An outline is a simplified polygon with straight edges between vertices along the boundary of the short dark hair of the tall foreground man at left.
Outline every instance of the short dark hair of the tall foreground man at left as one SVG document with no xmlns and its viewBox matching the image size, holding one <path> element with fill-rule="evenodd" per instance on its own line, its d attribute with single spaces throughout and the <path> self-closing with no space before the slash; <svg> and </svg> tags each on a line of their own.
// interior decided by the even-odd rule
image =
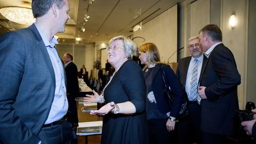
<svg viewBox="0 0 256 144">
<path fill-rule="evenodd" d="M 31 7 L 34 18 L 41 17 L 47 13 L 54 3 L 57 4 L 59 9 L 61 9 L 64 5 L 63 0 L 32 0 Z"/>
</svg>

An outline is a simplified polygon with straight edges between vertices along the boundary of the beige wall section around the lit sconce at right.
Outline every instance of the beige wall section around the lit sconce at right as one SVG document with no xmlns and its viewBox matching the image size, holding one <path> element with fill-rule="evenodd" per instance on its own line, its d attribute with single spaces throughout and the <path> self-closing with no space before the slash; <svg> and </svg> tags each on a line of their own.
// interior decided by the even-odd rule
<svg viewBox="0 0 256 144">
<path fill-rule="evenodd" d="M 222 1 L 221 13 L 221 31 L 222 42 L 233 52 L 237 69 L 241 75 L 241 84 L 238 86 L 238 100 L 239 107 L 243 108 L 245 104 L 247 83 L 247 7 L 246 1 L 241 0 L 225 0 Z M 235 13 L 237 17 L 237 26 L 235 28 L 229 27 L 230 15 Z"/>
</svg>

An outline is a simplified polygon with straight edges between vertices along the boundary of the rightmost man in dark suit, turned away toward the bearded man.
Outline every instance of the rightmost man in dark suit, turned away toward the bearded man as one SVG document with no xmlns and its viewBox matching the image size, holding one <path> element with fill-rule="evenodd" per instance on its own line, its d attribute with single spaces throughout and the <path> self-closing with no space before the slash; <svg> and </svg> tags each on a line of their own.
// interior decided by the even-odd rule
<svg viewBox="0 0 256 144">
<path fill-rule="evenodd" d="M 199 78 L 201 100 L 201 130 L 203 143 L 224 143 L 227 135 L 235 135 L 238 128 L 237 85 L 241 76 L 233 53 L 222 43 L 221 30 L 207 25 L 199 31 L 199 38 L 208 58 Z"/>
</svg>

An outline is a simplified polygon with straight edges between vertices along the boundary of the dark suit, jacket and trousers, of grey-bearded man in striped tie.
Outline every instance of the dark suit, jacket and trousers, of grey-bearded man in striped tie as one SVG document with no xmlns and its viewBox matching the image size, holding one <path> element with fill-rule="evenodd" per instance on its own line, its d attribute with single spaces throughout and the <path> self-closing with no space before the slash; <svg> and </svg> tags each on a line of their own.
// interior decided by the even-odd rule
<svg viewBox="0 0 256 144">
<path fill-rule="evenodd" d="M 180 82 L 183 86 L 183 89 L 186 90 L 186 81 L 188 67 L 191 57 L 186 57 L 179 60 L 177 67 L 176 75 L 180 79 Z M 202 68 L 206 63 L 207 58 L 203 55 Z M 202 75 L 202 69 L 201 73 Z M 191 139 L 195 139 L 197 142 L 200 141 L 201 130 L 200 130 L 200 121 L 201 121 L 201 108 L 197 104 L 197 101 L 194 103 L 189 103 L 190 114 L 188 117 L 180 119 L 179 121 L 179 141 L 180 143 L 192 143 Z M 191 124 L 192 123 L 192 124 Z M 189 130 L 188 130 L 189 129 Z M 192 137 L 194 136 L 194 138 Z M 184 139 L 184 137 L 189 137 Z"/>
</svg>

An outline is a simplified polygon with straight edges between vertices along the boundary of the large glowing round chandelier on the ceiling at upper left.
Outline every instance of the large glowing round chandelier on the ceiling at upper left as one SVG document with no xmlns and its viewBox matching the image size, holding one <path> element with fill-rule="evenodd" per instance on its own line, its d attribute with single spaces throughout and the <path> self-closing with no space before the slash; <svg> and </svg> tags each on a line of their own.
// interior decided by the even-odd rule
<svg viewBox="0 0 256 144">
<path fill-rule="evenodd" d="M 0 9 L 0 13 L 8 20 L 22 25 L 31 25 L 35 22 L 31 6 L 22 4 L 20 6 L 8 6 Z"/>
</svg>

